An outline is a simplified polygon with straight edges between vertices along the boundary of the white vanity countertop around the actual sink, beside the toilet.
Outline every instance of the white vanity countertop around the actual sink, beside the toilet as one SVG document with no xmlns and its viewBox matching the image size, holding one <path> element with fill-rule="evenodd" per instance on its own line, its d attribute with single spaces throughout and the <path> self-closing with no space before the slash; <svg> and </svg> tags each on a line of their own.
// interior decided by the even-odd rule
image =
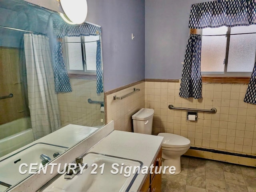
<svg viewBox="0 0 256 192">
<path fill-rule="evenodd" d="M 113 131 L 95 145 L 90 152 L 102 153 L 126 159 L 141 161 L 150 167 L 158 154 L 164 137 L 125 131 Z M 145 174 L 138 174 L 130 191 L 138 191 L 146 180 Z"/>
</svg>

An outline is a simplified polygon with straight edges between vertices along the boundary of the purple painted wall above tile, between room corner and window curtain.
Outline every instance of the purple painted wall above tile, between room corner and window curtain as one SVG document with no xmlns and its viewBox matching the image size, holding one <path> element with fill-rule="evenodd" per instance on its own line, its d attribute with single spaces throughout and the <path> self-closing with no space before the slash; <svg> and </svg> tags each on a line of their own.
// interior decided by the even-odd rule
<svg viewBox="0 0 256 192">
<path fill-rule="evenodd" d="M 191 5 L 208 1 L 145 0 L 145 78 L 181 78 Z"/>
</svg>

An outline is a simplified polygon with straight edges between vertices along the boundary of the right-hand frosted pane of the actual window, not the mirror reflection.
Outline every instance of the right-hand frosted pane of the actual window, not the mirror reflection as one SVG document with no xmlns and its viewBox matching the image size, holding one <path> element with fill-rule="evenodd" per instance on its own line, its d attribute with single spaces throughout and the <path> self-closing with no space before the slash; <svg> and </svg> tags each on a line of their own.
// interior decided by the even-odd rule
<svg viewBox="0 0 256 192">
<path fill-rule="evenodd" d="M 256 25 L 231 27 L 230 34 L 256 32 Z M 227 72 L 252 72 L 256 34 L 230 35 Z"/>
</svg>

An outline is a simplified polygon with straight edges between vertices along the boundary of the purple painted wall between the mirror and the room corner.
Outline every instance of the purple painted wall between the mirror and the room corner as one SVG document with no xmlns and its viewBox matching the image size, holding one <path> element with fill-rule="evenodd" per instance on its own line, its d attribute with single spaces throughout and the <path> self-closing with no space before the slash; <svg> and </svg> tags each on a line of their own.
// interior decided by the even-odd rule
<svg viewBox="0 0 256 192">
<path fill-rule="evenodd" d="M 143 80 L 144 0 L 87 0 L 87 3 L 86 21 L 102 26 L 104 91 Z"/>
</svg>

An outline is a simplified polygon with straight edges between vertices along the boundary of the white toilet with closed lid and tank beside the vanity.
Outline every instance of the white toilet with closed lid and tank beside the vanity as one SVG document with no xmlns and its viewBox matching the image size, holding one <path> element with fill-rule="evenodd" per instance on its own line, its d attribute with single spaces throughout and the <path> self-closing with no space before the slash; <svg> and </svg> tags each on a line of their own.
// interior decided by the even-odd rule
<svg viewBox="0 0 256 192">
<path fill-rule="evenodd" d="M 142 108 L 132 116 L 134 133 L 152 133 L 154 110 Z M 186 137 L 172 133 L 159 133 L 158 136 L 164 137 L 162 143 L 162 170 L 164 166 L 174 166 L 174 174 L 181 172 L 180 156 L 190 148 L 190 140 Z M 168 171 L 165 174 L 170 174 Z"/>
</svg>

